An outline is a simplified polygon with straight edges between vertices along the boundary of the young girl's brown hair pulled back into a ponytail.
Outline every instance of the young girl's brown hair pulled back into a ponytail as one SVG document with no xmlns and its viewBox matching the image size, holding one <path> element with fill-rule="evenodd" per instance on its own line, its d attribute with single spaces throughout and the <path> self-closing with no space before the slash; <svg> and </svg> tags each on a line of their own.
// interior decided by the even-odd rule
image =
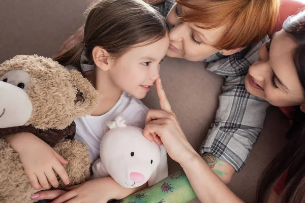
<svg viewBox="0 0 305 203">
<path fill-rule="evenodd" d="M 85 55 L 93 60 L 92 51 L 103 47 L 110 57 L 117 59 L 139 43 L 157 42 L 168 33 L 164 17 L 141 0 L 101 0 L 88 9 L 83 43 L 55 56 L 62 65 L 80 69 L 80 59 Z"/>
</svg>

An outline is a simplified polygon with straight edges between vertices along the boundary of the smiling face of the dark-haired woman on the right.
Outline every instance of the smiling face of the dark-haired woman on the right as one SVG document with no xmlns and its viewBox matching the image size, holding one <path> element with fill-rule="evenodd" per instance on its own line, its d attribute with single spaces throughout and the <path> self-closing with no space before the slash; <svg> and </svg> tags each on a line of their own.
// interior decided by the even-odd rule
<svg viewBox="0 0 305 203">
<path fill-rule="evenodd" d="M 293 61 L 297 44 L 283 29 L 260 47 L 258 61 L 245 79 L 247 90 L 273 106 L 305 103 L 304 93 Z"/>
</svg>

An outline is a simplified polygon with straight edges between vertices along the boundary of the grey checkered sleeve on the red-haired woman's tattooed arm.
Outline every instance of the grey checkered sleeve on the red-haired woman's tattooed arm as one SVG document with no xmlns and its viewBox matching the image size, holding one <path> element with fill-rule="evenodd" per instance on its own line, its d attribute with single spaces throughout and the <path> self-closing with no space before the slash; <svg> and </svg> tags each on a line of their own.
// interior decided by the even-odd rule
<svg viewBox="0 0 305 203">
<path fill-rule="evenodd" d="M 237 172 L 245 165 L 263 128 L 269 104 L 243 85 L 245 77 L 228 77 L 219 96 L 219 109 L 201 155 L 208 152 L 230 163 Z"/>
</svg>

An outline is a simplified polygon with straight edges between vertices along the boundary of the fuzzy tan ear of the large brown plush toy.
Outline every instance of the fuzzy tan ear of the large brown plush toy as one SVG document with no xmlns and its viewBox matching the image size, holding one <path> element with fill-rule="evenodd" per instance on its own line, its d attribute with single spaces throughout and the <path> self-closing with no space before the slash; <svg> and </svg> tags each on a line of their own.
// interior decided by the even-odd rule
<svg viewBox="0 0 305 203">
<path fill-rule="evenodd" d="M 92 84 L 76 70 L 70 71 L 71 83 L 76 89 L 74 117 L 82 117 L 92 114 L 99 101 L 99 92 Z"/>
</svg>

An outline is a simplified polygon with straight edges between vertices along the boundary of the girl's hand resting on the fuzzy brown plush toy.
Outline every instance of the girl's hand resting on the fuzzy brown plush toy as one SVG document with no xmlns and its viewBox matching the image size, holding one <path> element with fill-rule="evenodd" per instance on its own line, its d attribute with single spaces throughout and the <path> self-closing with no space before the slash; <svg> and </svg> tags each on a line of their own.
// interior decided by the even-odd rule
<svg viewBox="0 0 305 203">
<path fill-rule="evenodd" d="M 69 184 L 68 174 L 63 167 L 68 161 L 34 134 L 28 132 L 14 134 L 9 136 L 7 141 L 19 154 L 25 174 L 35 189 L 40 190 L 41 187 L 50 189 L 50 184 L 58 187 L 59 183 L 54 171 L 65 184 Z"/>
</svg>

